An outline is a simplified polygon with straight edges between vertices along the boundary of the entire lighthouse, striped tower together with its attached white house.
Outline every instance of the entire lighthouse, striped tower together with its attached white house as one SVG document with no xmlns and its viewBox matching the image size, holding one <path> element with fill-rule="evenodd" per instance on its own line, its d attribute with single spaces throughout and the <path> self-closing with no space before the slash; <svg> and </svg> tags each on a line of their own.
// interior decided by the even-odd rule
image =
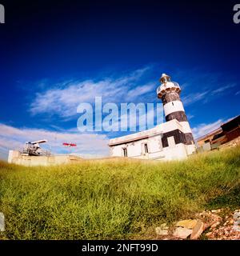
<svg viewBox="0 0 240 256">
<path fill-rule="evenodd" d="M 179 94 L 180 86 L 162 74 L 157 89 L 162 99 L 166 122 L 152 129 L 110 139 L 110 155 L 141 159 L 171 160 L 186 158 L 195 151 L 194 138 Z"/>
</svg>

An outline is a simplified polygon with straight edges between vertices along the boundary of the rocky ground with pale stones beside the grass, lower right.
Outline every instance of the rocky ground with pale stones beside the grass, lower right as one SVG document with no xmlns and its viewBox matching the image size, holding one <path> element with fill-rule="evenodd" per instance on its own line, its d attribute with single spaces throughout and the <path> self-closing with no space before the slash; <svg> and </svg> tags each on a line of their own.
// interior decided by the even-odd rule
<svg viewBox="0 0 240 256">
<path fill-rule="evenodd" d="M 206 210 L 169 226 L 163 223 L 155 231 L 163 240 L 240 240 L 240 210 Z"/>
</svg>

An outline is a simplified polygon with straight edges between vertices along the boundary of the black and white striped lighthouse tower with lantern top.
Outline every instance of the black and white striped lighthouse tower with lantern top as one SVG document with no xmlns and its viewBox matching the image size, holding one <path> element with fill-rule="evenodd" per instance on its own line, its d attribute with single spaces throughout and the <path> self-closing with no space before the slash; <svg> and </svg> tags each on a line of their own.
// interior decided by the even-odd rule
<svg viewBox="0 0 240 256">
<path fill-rule="evenodd" d="M 160 82 L 161 86 L 158 87 L 157 93 L 158 98 L 162 99 L 166 122 L 177 119 L 185 135 L 184 144 L 193 145 L 194 137 L 179 96 L 181 88 L 178 82 L 171 82 L 170 76 L 167 74 L 162 74 Z"/>
</svg>

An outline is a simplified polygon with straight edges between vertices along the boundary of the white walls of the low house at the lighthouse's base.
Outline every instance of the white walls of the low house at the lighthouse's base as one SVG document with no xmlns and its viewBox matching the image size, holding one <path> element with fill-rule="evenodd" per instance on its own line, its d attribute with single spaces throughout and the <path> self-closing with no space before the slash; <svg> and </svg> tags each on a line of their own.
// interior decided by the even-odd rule
<svg viewBox="0 0 240 256">
<path fill-rule="evenodd" d="M 182 131 L 181 122 L 174 119 L 150 130 L 111 139 L 110 155 L 124 157 L 123 148 L 126 148 L 128 158 L 173 160 L 184 159 L 187 155 L 193 154 L 196 150 L 195 145 L 185 145 L 178 142 L 176 144 L 173 136 L 167 138 L 169 146 L 162 146 L 162 134 L 172 130 Z M 145 152 L 144 144 L 147 144 L 148 153 Z"/>
</svg>

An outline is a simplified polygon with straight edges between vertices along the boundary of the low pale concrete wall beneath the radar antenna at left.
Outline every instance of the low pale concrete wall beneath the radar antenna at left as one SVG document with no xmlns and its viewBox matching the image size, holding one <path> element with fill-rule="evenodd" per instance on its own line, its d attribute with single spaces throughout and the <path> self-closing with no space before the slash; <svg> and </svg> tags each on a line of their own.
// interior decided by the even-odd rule
<svg viewBox="0 0 240 256">
<path fill-rule="evenodd" d="M 82 158 L 68 154 L 53 156 L 28 156 L 20 154 L 19 151 L 10 150 L 8 155 L 8 162 L 22 166 L 50 166 L 78 161 L 82 161 Z"/>
</svg>

